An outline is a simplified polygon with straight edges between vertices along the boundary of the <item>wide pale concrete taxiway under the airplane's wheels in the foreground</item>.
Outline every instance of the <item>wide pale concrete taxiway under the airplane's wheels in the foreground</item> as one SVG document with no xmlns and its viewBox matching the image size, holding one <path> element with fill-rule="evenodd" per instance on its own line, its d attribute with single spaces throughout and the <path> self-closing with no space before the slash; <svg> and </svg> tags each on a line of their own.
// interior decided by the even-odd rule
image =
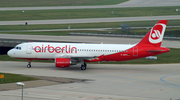
<svg viewBox="0 0 180 100">
<path fill-rule="evenodd" d="M 173 100 L 180 99 L 180 64 L 88 64 L 55 68 L 53 63 L 0 62 L 0 72 L 90 79 L 92 81 L 24 89 L 24 100 Z M 26 85 L 25 85 L 26 86 Z M 21 99 L 21 89 L 0 91 L 3 100 Z"/>
</svg>

